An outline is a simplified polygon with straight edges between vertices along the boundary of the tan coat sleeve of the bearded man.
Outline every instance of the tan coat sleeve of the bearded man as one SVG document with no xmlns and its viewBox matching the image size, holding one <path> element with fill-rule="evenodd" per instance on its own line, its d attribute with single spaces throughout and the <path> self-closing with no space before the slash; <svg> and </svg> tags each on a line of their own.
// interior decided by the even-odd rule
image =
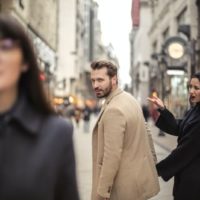
<svg viewBox="0 0 200 200">
<path fill-rule="evenodd" d="M 104 157 L 97 193 L 110 198 L 113 181 L 118 172 L 123 150 L 126 120 L 118 109 L 109 109 L 104 114 Z"/>
</svg>

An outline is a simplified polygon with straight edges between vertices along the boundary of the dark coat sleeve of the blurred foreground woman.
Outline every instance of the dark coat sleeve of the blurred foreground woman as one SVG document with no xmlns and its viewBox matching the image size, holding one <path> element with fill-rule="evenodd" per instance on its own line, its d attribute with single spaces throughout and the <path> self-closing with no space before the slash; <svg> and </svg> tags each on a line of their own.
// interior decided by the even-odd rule
<svg viewBox="0 0 200 200">
<path fill-rule="evenodd" d="M 65 147 L 62 156 L 62 166 L 58 183 L 56 186 L 56 198 L 55 200 L 73 199 L 79 200 L 77 181 L 76 181 L 76 167 L 75 156 L 73 147 L 73 127 L 68 124 L 63 129 L 65 133 Z"/>
</svg>

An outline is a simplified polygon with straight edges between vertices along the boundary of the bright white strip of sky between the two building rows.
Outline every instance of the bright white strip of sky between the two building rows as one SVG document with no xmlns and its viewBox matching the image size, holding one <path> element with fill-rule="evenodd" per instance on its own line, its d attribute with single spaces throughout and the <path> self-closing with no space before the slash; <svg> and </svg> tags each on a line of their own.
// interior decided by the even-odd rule
<svg viewBox="0 0 200 200">
<path fill-rule="evenodd" d="M 99 4 L 102 41 L 111 43 L 119 60 L 121 84 L 130 84 L 131 0 L 96 0 Z"/>
</svg>

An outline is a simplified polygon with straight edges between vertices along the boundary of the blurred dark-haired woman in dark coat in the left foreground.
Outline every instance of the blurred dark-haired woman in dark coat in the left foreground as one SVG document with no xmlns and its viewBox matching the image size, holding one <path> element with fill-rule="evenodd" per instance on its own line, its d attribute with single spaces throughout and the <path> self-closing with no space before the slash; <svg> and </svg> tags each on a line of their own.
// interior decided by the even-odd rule
<svg viewBox="0 0 200 200">
<path fill-rule="evenodd" d="M 0 199 L 78 200 L 72 126 L 57 117 L 24 28 L 0 16 Z"/>
</svg>

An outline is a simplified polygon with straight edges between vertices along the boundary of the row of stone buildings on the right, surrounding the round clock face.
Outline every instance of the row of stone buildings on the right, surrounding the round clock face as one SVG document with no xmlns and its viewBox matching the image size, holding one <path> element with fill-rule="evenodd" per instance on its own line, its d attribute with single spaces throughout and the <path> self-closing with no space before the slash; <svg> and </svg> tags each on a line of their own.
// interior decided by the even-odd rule
<svg viewBox="0 0 200 200">
<path fill-rule="evenodd" d="M 135 2 L 140 3 L 139 12 L 135 11 L 140 13 L 136 18 L 140 19 L 140 24 L 133 27 L 130 34 L 133 94 L 139 100 L 146 99 L 147 95 L 158 95 L 177 117 L 181 117 L 188 106 L 188 80 L 198 70 L 197 1 Z M 173 37 L 186 43 L 186 62 L 182 68 L 169 69 L 166 61 L 164 47 Z M 141 104 L 144 103 L 142 100 Z"/>
</svg>

